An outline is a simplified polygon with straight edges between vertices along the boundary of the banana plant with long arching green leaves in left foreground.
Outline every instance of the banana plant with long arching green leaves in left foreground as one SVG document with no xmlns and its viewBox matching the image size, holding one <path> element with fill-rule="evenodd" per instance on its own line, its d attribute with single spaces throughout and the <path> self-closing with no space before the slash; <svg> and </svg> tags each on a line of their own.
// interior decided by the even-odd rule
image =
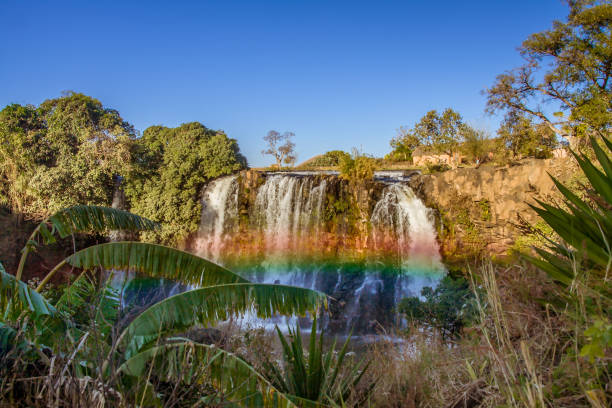
<svg viewBox="0 0 612 408">
<path fill-rule="evenodd" d="M 157 227 L 156 223 L 125 211 L 90 206 L 71 207 L 43 221 L 26 243 L 16 276 L 0 270 L 3 312 L 0 337 L 7 339 L 3 342 L 14 337 L 10 329 L 11 324 L 19 321 L 18 317 L 31 316 L 40 323 L 37 333 L 41 332 L 41 327 L 47 329 L 47 335 L 40 336 L 45 345 L 54 338 L 56 341 L 58 338 L 71 340 L 73 350 L 69 361 L 73 362 L 76 375 L 96 375 L 102 380 L 118 381 L 122 387 L 135 384 L 129 394 L 141 395 L 147 404 L 157 405 L 159 394 L 154 392 L 148 380 L 140 381 L 138 377 L 145 370 L 151 373 L 150 370 L 155 369 L 156 376 L 175 381 L 202 381 L 205 376 L 225 398 L 257 400 L 257 405 L 261 406 L 294 406 L 270 381 L 237 356 L 175 336 L 195 325 L 211 326 L 245 312 L 254 312 L 262 318 L 276 314 L 316 313 L 321 305 L 327 306 L 323 293 L 293 286 L 252 283 L 196 255 L 142 242 L 112 242 L 80 250 L 52 268 L 36 290 L 20 280 L 28 254 L 40 244 L 54 242 L 57 236 Z M 83 272 L 52 305 L 39 292 L 59 270 L 68 266 Z M 90 280 L 90 271 L 96 269 L 135 272 L 196 288 L 151 305 L 113 337 L 108 334 L 111 328 L 116 328 L 117 314 L 113 313 L 112 306 L 116 296 L 109 280 L 101 289 Z M 91 324 L 76 325 L 74 310 L 91 300 L 92 295 L 97 295 L 97 301 Z M 117 309 L 115 304 L 114 310 Z M 91 347 L 87 347 L 94 337 L 103 355 L 95 361 L 90 358 Z M 190 366 L 207 369 L 196 370 L 199 374 L 187 376 L 187 379 L 184 373 L 177 375 L 181 370 L 189 371 Z"/>
</svg>

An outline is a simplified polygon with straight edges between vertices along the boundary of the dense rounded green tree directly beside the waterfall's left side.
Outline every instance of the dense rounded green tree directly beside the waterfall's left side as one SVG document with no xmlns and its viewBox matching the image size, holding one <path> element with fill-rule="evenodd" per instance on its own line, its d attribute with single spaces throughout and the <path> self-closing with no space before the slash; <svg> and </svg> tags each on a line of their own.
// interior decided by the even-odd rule
<svg viewBox="0 0 612 408">
<path fill-rule="evenodd" d="M 133 155 L 134 171 L 125 180 L 131 210 L 163 223 L 142 238 L 171 245 L 197 231 L 205 183 L 247 165 L 236 140 L 198 122 L 147 128 Z"/>
</svg>

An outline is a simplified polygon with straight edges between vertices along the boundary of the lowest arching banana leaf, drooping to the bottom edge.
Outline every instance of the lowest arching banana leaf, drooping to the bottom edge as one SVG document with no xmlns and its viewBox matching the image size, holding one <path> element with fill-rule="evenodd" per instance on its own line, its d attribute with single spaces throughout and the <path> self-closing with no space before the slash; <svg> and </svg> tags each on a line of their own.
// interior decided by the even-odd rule
<svg viewBox="0 0 612 408">
<path fill-rule="evenodd" d="M 142 377 L 151 364 L 163 381 L 187 384 L 207 381 L 229 401 L 240 401 L 242 406 L 296 406 L 244 360 L 215 346 L 192 342 L 163 344 L 131 357 L 118 372 Z"/>
</svg>

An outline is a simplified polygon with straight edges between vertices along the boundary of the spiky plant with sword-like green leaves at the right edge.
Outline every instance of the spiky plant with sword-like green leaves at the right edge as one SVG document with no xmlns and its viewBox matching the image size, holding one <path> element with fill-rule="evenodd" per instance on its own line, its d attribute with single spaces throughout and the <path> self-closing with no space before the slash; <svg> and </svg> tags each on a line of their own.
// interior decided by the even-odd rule
<svg viewBox="0 0 612 408">
<path fill-rule="evenodd" d="M 612 378 L 612 142 L 604 147 L 591 138 L 599 165 L 585 154 L 572 152 L 588 180 L 579 197 L 557 179 L 562 205 L 538 201 L 532 206 L 559 240 L 548 238 L 548 248 L 527 256 L 562 288 L 558 303 L 575 326 L 575 350 L 593 363 L 580 387 L 592 406 L 607 406 L 606 384 Z"/>
</svg>

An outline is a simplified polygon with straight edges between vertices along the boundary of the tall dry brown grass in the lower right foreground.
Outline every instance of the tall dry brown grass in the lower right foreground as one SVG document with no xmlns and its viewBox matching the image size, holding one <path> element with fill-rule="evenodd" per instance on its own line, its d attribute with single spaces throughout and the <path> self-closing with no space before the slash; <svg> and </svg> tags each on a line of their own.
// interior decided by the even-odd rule
<svg viewBox="0 0 612 408">
<path fill-rule="evenodd" d="M 461 339 L 440 344 L 419 333 L 371 347 L 372 406 L 609 406 L 610 391 L 589 385 L 601 372 L 578 356 L 577 327 L 553 306 L 554 284 L 522 264 L 488 263 L 472 277 L 484 294 L 480 323 Z"/>
</svg>

